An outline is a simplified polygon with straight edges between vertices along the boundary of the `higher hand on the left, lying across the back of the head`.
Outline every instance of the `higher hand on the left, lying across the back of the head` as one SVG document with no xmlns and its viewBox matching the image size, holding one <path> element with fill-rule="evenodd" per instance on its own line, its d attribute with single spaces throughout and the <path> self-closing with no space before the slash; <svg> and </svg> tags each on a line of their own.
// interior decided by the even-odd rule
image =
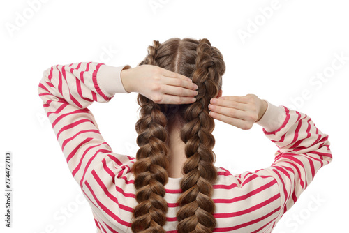
<svg viewBox="0 0 349 233">
<path fill-rule="evenodd" d="M 198 86 L 179 73 L 159 66 L 142 65 L 121 71 L 128 92 L 137 92 L 159 104 L 186 104 L 196 101 Z"/>
</svg>

